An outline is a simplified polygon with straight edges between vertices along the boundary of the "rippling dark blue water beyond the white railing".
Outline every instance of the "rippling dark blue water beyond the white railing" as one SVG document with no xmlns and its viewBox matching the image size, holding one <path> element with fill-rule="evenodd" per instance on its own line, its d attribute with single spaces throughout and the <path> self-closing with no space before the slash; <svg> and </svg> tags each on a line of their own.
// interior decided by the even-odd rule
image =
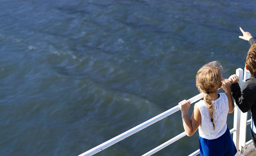
<svg viewBox="0 0 256 156">
<path fill-rule="evenodd" d="M 78 155 L 198 94 L 205 63 L 235 74 L 255 5 L 0 1 L 0 155 Z M 183 130 L 177 112 L 96 155 L 142 155 Z M 198 148 L 196 132 L 155 155 Z"/>
</svg>

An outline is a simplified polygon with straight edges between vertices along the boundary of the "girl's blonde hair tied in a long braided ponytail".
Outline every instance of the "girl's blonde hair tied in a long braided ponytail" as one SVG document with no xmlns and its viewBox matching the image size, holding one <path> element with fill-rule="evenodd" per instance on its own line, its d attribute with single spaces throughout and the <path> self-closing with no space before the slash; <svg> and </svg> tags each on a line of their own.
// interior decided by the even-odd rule
<svg viewBox="0 0 256 156">
<path fill-rule="evenodd" d="M 204 102 L 208 106 L 213 124 L 213 131 L 215 131 L 215 124 L 213 121 L 212 97 L 209 93 L 215 92 L 222 84 L 221 71 L 223 70 L 220 62 L 213 61 L 202 66 L 196 73 L 196 87 L 200 92 L 204 92 Z"/>
</svg>

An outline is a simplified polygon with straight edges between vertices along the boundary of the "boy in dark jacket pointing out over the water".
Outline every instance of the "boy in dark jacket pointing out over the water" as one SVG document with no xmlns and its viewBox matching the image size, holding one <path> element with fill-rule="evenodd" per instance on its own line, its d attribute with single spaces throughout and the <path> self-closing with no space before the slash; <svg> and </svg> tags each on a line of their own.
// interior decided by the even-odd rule
<svg viewBox="0 0 256 156">
<path fill-rule="evenodd" d="M 236 101 L 236 105 L 242 112 L 248 112 L 251 110 L 252 113 L 252 124 L 251 124 L 251 137 L 253 144 L 256 148 L 256 38 L 252 37 L 249 32 L 244 32 L 240 27 L 243 36 L 239 36 L 246 41 L 249 41 L 250 47 L 247 52 L 247 56 L 244 59 L 245 68 L 250 71 L 253 77 L 247 79 L 244 82 L 242 89 L 238 85 L 238 77 L 236 74 L 231 75 L 228 80 L 231 82 L 232 96 Z"/>
</svg>

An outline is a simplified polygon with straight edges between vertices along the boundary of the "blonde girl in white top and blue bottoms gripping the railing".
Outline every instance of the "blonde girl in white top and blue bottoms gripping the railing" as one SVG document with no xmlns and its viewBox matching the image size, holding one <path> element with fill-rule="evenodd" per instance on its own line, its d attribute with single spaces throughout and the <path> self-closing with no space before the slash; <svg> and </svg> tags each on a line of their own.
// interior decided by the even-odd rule
<svg viewBox="0 0 256 156">
<path fill-rule="evenodd" d="M 179 103 L 187 136 L 192 136 L 199 127 L 201 156 L 234 156 L 237 152 L 226 123 L 228 113 L 234 110 L 234 102 L 230 82 L 222 80 L 221 69 L 220 63 L 213 61 L 198 70 L 196 87 L 204 93 L 204 100 L 194 105 L 191 120 L 188 115 L 190 101 Z M 225 93 L 217 93 L 220 87 Z"/>
</svg>

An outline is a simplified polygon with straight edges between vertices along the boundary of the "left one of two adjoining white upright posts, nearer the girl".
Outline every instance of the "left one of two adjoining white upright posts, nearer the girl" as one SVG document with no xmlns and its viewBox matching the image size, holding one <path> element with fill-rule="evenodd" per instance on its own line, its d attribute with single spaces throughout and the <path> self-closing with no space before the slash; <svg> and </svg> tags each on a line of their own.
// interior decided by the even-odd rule
<svg viewBox="0 0 256 156">
<path fill-rule="evenodd" d="M 241 68 L 236 69 L 236 75 L 239 78 L 239 84 L 243 83 L 243 74 L 244 71 Z M 236 145 L 237 151 L 239 151 L 239 134 L 240 134 L 240 117 L 241 117 L 241 111 L 238 108 L 238 106 L 235 103 L 235 108 L 234 108 L 234 129 L 236 131 L 233 133 L 233 141 Z M 236 156 L 238 156 L 238 152 L 236 153 Z"/>
</svg>

